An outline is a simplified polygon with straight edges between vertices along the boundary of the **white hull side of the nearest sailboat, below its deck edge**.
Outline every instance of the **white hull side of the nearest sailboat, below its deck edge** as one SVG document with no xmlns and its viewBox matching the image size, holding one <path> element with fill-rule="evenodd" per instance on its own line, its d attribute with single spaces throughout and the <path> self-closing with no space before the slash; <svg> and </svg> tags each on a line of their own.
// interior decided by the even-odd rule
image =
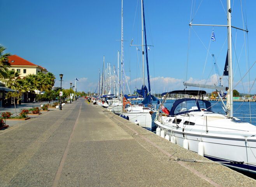
<svg viewBox="0 0 256 187">
<path fill-rule="evenodd" d="M 188 149 L 198 153 L 198 144 L 203 142 L 204 156 L 225 166 L 256 173 L 256 140 L 240 136 L 218 136 L 218 134 L 198 133 L 182 128 L 168 127 L 159 121 L 156 125 L 164 129 L 166 134 L 175 137 L 175 143 L 183 147 L 184 139 L 188 140 Z M 168 130 L 167 130 L 168 129 Z M 238 154 L 239 153 L 239 154 Z M 247 164 L 246 164 L 247 163 Z"/>
</svg>

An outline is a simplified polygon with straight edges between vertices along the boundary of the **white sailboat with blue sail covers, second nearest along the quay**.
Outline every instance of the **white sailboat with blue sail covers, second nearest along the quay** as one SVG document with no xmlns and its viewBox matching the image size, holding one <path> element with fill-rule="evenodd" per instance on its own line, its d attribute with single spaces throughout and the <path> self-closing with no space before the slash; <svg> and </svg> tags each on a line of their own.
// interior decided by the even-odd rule
<svg viewBox="0 0 256 187">
<path fill-rule="evenodd" d="M 156 125 L 154 124 L 154 118 L 156 117 L 156 109 L 152 107 L 152 101 L 156 101 L 158 104 L 160 101 L 151 95 L 151 87 L 149 80 L 149 65 L 148 65 L 148 57 L 147 57 L 147 39 L 146 39 L 146 24 L 145 24 L 145 15 L 144 15 L 144 3 L 141 0 L 142 7 L 142 70 L 143 70 L 143 85 L 141 89 L 137 89 L 137 93 L 139 96 L 143 97 L 144 100 L 139 105 L 131 105 L 128 99 L 131 97 L 124 95 L 123 98 L 123 111 L 120 115 L 121 117 L 139 125 L 148 130 L 155 129 Z M 147 89 L 145 84 L 145 73 L 144 73 L 144 36 L 145 36 L 145 50 L 146 50 L 146 61 L 147 61 L 147 81 L 148 87 Z M 132 43 L 131 43 L 132 45 Z M 130 106 L 126 107 L 126 104 L 130 104 Z"/>
</svg>

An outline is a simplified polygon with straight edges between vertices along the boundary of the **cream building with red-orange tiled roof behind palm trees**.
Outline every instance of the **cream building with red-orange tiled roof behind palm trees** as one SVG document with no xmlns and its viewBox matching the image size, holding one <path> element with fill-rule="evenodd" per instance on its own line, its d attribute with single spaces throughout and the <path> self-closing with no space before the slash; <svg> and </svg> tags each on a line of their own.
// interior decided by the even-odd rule
<svg viewBox="0 0 256 187">
<path fill-rule="evenodd" d="M 42 72 L 46 74 L 48 71 L 40 65 L 36 65 L 24 58 L 19 57 L 18 55 L 11 55 L 8 57 L 11 67 L 9 69 L 15 70 L 20 73 L 19 77 L 23 79 L 26 75 L 37 74 Z"/>
</svg>

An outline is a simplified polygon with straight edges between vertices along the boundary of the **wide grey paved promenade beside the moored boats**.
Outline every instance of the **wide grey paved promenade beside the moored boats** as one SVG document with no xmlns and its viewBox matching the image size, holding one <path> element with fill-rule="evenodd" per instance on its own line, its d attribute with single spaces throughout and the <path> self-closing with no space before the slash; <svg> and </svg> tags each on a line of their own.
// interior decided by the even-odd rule
<svg viewBox="0 0 256 187">
<path fill-rule="evenodd" d="M 0 130 L 0 157 L 0 186 L 256 186 L 83 99 Z"/>
</svg>

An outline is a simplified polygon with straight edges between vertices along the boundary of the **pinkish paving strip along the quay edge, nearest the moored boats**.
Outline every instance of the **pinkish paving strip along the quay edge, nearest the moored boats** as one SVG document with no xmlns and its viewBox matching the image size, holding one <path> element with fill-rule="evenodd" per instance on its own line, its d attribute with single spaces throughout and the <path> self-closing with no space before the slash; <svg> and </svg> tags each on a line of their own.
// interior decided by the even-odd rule
<svg viewBox="0 0 256 187">
<path fill-rule="evenodd" d="M 116 120 L 118 120 L 119 122 L 121 122 L 119 119 L 116 118 Z M 128 123 L 126 123 L 128 124 Z M 150 141 L 149 139 L 147 139 L 146 137 L 142 136 L 142 134 L 139 134 L 136 130 L 132 129 L 131 127 L 129 127 L 128 125 L 125 125 L 128 129 L 132 130 L 135 134 L 138 134 L 140 137 L 142 137 L 142 139 L 144 139 L 146 142 L 148 142 L 149 144 L 153 145 L 155 148 L 159 149 L 162 153 L 164 153 L 165 155 L 169 156 L 170 158 L 172 157 L 172 154 L 168 153 L 167 151 L 161 149 L 158 145 L 156 145 L 154 142 Z M 216 186 L 216 187 L 221 187 L 221 185 L 217 184 L 216 182 L 212 181 L 210 178 L 206 177 L 205 175 L 203 175 L 202 173 L 198 172 L 197 170 L 195 170 L 194 168 L 191 168 L 189 165 L 187 165 L 186 163 L 182 162 L 182 161 L 177 161 L 177 163 L 179 163 L 181 166 L 183 166 L 184 168 L 190 170 L 192 173 L 194 173 L 195 175 L 197 175 L 198 177 L 206 180 L 207 182 L 209 182 L 210 184 Z"/>
</svg>

